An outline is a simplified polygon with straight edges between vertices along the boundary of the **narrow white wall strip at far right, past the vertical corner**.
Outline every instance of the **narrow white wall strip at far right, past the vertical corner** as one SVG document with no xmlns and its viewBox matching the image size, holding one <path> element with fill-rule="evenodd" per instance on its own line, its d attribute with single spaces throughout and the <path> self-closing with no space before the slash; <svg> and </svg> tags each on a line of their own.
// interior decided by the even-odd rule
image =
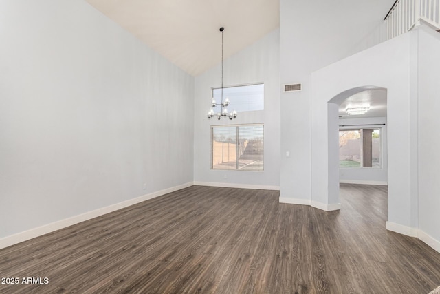
<svg viewBox="0 0 440 294">
<path fill-rule="evenodd" d="M 422 27 L 418 55 L 419 229 L 431 237 L 425 241 L 440 252 L 439 52 L 440 34 Z"/>
</svg>

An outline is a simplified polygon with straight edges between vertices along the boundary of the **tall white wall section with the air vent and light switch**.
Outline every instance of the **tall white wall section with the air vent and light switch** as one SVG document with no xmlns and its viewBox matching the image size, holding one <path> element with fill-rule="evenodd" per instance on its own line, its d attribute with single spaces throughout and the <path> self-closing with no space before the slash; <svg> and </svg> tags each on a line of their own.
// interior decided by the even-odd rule
<svg viewBox="0 0 440 294">
<path fill-rule="evenodd" d="M 380 43 L 393 2 L 280 1 L 281 85 L 303 83 L 281 93 L 281 201 L 311 200 L 311 72 Z"/>
</svg>

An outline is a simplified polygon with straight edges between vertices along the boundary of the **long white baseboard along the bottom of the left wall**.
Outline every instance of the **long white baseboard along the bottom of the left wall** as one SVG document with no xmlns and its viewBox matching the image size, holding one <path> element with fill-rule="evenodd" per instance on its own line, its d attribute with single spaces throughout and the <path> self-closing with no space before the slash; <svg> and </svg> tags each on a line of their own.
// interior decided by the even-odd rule
<svg viewBox="0 0 440 294">
<path fill-rule="evenodd" d="M 113 211 L 117 211 L 118 209 L 122 209 L 124 207 L 129 207 L 133 204 L 137 204 L 146 200 L 150 200 L 156 198 L 158 196 L 165 195 L 167 193 L 171 193 L 180 189 L 184 189 L 186 187 L 190 187 L 193 185 L 193 182 L 187 182 L 186 184 L 171 187 L 168 189 L 164 189 L 161 191 L 156 191 L 153 193 L 146 194 L 144 196 L 140 196 L 137 198 L 133 198 L 130 200 L 126 200 L 123 202 L 119 202 L 116 204 L 109 205 L 108 207 L 102 207 L 100 209 L 96 209 L 94 211 L 88 211 L 86 213 L 82 213 L 78 216 L 72 216 L 71 218 L 65 218 L 64 220 L 58 220 L 57 222 L 52 222 L 51 224 L 45 224 L 41 227 L 36 227 L 34 229 L 30 229 L 28 231 L 23 231 L 21 233 L 17 233 L 14 235 L 7 236 L 5 238 L 0 239 L 0 249 L 3 249 L 8 246 L 12 246 L 14 244 L 18 244 L 23 241 L 30 240 L 32 238 L 39 237 L 41 235 L 45 235 L 47 233 L 51 233 L 53 231 L 63 229 L 65 227 L 72 226 L 73 224 L 78 224 L 79 222 L 84 222 L 85 220 L 90 220 L 91 218 L 96 218 L 98 216 L 102 216 L 107 213 L 111 213 Z"/>
</svg>

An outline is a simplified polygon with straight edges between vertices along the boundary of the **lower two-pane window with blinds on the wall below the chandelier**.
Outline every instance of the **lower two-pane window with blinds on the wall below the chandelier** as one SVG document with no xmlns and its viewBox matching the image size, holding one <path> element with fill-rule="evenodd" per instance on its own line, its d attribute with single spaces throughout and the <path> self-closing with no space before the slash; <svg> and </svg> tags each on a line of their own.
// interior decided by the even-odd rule
<svg viewBox="0 0 440 294">
<path fill-rule="evenodd" d="M 211 127 L 211 169 L 263 171 L 263 125 Z"/>
</svg>

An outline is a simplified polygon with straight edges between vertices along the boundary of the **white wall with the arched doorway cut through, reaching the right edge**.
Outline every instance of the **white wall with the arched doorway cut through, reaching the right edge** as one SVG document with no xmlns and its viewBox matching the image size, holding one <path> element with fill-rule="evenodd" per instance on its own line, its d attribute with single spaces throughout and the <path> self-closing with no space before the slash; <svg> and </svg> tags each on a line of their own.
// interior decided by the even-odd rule
<svg viewBox="0 0 440 294">
<path fill-rule="evenodd" d="M 386 228 L 417 236 L 440 252 L 438 178 L 440 120 L 440 35 L 418 27 L 391 41 L 350 56 L 312 74 L 312 193 L 319 202 L 336 199 L 338 169 L 330 156 L 337 129 L 333 103 L 347 89 L 377 85 L 387 89 L 388 222 Z M 330 98 L 330 99 L 329 99 Z M 336 112 L 336 109 L 333 109 Z M 329 165 L 322 169 L 322 165 Z M 326 174 L 326 172 L 328 174 Z M 324 180 L 323 180 L 324 179 Z M 328 182 L 326 180 L 328 179 Z M 333 184 L 335 185 L 333 185 Z M 327 192 L 327 195 L 325 193 Z M 325 195 L 325 197 L 322 197 Z M 312 202 L 313 202 L 312 198 Z"/>
</svg>

